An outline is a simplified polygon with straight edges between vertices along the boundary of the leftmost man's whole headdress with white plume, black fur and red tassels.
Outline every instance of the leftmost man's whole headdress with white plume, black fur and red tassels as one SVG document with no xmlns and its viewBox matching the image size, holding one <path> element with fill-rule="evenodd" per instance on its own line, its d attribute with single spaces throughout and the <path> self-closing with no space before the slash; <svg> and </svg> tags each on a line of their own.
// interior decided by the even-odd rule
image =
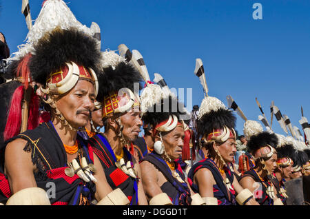
<svg viewBox="0 0 310 219">
<path fill-rule="evenodd" d="M 63 1 L 45 1 L 34 25 L 30 26 L 26 43 L 19 45 L 19 51 L 14 52 L 13 56 L 8 59 L 8 71 L 12 79 L 23 83 L 21 92 L 25 95 L 19 95 L 21 96 L 19 100 L 15 98 L 17 95 L 12 97 L 8 128 L 5 132 L 12 134 L 8 134 L 7 138 L 18 134 L 20 130 L 25 131 L 23 127 L 11 124 L 15 123 L 14 121 L 20 121 L 18 117 L 22 117 L 21 115 L 11 116 L 17 115 L 11 110 L 19 108 L 16 103 L 21 102 L 23 98 L 24 102 L 29 102 L 26 98 L 27 94 L 34 93 L 32 87 L 28 86 L 31 81 L 41 83 L 43 86 L 41 90 L 45 93 L 43 101 L 56 110 L 56 115 L 61 118 L 64 125 L 68 123 L 56 109 L 51 95 L 70 91 L 79 79 L 94 83 L 96 93 L 99 88 L 96 79 L 98 72 L 96 65 L 101 60 L 99 41 L 93 37 L 94 30 L 77 21 Z M 34 107 L 30 105 L 29 115 L 34 116 L 32 119 L 30 119 L 31 116 L 28 118 L 28 129 L 38 125 L 37 118 L 39 117 L 38 107 L 35 107 L 39 100 L 36 99 L 38 97 L 35 94 L 32 96 L 34 96 L 34 101 L 31 100 Z M 28 106 L 25 105 L 26 110 L 27 108 Z M 68 127 L 72 129 L 71 125 Z"/>
</svg>

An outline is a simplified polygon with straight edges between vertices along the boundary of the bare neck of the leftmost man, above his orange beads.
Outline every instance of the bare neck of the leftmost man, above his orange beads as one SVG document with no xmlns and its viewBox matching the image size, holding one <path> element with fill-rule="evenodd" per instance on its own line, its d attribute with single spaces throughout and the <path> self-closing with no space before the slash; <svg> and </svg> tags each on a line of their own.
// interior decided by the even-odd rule
<svg viewBox="0 0 310 219">
<path fill-rule="evenodd" d="M 52 120 L 52 123 L 64 145 L 72 146 L 75 144 L 77 135 L 75 130 L 69 130 L 68 127 L 63 127 L 63 124 L 60 121 L 57 121 L 56 118 Z"/>
</svg>

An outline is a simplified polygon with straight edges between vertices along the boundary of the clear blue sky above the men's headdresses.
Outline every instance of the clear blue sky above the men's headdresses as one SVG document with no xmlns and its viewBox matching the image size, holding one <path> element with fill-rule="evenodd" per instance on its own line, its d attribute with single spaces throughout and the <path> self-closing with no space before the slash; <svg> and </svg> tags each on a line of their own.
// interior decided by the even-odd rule
<svg viewBox="0 0 310 219">
<path fill-rule="evenodd" d="M 43 1 L 29 1 L 36 19 Z M 261 20 L 252 17 L 256 2 L 262 5 Z M 16 52 L 28 33 L 21 0 L 0 3 L 0 31 Z M 231 95 L 248 119 L 258 120 L 257 97 L 269 121 L 271 101 L 300 131 L 301 105 L 310 121 L 310 1 L 72 0 L 68 6 L 81 23 L 99 24 L 102 50 L 121 43 L 138 50 L 151 79 L 157 72 L 170 88 L 192 88 L 193 105 L 203 99 L 194 76 L 200 58 L 209 95 L 225 105 Z M 244 121 L 236 116 L 242 134 Z M 273 131 L 285 134 L 274 116 Z"/>
</svg>

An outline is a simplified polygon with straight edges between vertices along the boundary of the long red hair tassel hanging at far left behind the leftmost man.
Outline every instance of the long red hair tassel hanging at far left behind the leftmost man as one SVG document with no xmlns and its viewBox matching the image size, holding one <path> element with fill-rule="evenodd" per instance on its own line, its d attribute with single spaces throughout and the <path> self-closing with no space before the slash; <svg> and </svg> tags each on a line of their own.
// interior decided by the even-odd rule
<svg viewBox="0 0 310 219">
<path fill-rule="evenodd" d="M 17 136 L 21 130 L 21 103 L 24 92 L 23 86 L 17 87 L 14 91 L 8 113 L 8 120 L 6 122 L 6 129 L 4 129 L 3 132 L 4 140 Z"/>
</svg>

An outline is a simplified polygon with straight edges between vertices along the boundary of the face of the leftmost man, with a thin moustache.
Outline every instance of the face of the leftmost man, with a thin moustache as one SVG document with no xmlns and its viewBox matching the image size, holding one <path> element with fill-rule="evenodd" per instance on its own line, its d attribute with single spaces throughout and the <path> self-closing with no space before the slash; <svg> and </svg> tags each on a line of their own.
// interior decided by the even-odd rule
<svg viewBox="0 0 310 219">
<path fill-rule="evenodd" d="M 56 100 L 57 109 L 72 127 L 84 127 L 94 110 L 94 85 L 90 81 L 79 80 L 76 85 Z"/>
</svg>

